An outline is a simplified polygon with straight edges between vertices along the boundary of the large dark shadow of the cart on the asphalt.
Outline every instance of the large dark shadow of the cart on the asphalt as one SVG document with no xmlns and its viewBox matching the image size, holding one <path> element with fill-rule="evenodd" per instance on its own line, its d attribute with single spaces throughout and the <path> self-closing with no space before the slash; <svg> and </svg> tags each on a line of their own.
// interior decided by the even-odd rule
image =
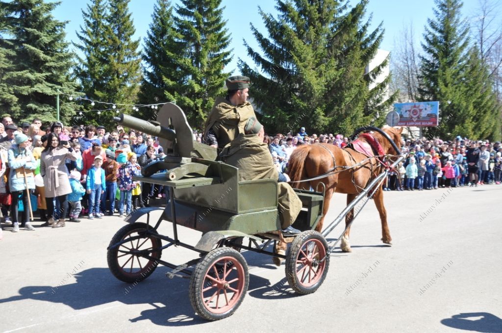
<svg viewBox="0 0 502 333">
<path fill-rule="evenodd" d="M 82 310 L 119 301 L 131 305 L 150 304 L 153 307 L 141 311 L 134 318 L 123 318 L 131 322 L 150 320 L 164 326 L 206 323 L 206 320 L 195 314 L 190 304 L 188 298 L 190 280 L 187 278 L 169 279 L 165 277 L 168 271 L 170 268 L 159 266 L 149 279 L 138 284 L 131 284 L 118 281 L 111 275 L 108 268 L 90 268 L 71 275 L 76 279 L 75 283 L 61 283 L 62 285 L 57 287 L 47 285 L 22 287 L 18 291 L 19 295 L 0 299 L 0 304 L 34 299 L 61 303 L 74 310 Z M 249 274 L 248 291 L 259 288 L 262 290 L 264 286 L 270 289 L 268 285 L 270 285 L 268 279 Z M 16 306 L 16 303 L 12 305 Z"/>
</svg>

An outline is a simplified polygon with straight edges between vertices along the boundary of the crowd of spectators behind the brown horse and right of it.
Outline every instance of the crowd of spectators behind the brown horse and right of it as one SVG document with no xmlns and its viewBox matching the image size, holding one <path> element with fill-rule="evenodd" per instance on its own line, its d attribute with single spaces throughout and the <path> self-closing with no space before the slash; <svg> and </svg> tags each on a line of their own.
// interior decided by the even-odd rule
<svg viewBox="0 0 502 333">
<path fill-rule="evenodd" d="M 301 127 L 296 134 L 265 136 L 272 158 L 284 172 L 291 153 L 304 144 L 327 143 L 344 148 L 349 138 L 342 134 L 311 134 Z M 404 162 L 389 173 L 384 191 L 423 191 L 438 188 L 496 184 L 502 181 L 502 146 L 500 142 L 472 140 L 457 136 L 407 139 L 402 142 Z"/>
</svg>

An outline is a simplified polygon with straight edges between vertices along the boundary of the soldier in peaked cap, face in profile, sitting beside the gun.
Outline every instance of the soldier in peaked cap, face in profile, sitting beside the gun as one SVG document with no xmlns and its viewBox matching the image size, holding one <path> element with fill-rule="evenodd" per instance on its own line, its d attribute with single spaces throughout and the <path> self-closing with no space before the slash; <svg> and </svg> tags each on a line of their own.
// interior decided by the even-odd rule
<svg viewBox="0 0 502 333">
<path fill-rule="evenodd" d="M 228 93 L 225 98 L 217 97 L 204 126 L 204 143 L 222 149 L 239 133 L 255 110 L 247 101 L 249 78 L 232 76 L 225 80 Z"/>
</svg>

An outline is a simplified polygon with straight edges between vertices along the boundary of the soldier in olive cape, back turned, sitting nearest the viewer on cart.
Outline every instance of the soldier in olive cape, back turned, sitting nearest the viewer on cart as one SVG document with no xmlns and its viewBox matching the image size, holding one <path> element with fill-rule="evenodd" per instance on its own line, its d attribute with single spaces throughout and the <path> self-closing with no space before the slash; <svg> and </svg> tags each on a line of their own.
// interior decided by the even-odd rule
<svg viewBox="0 0 502 333">
<path fill-rule="evenodd" d="M 280 174 L 274 166 L 269 147 L 263 142 L 264 133 L 263 125 L 255 117 L 249 118 L 244 133 L 238 134 L 223 148 L 218 159 L 239 169 L 239 181 L 279 180 L 278 203 L 282 233 L 284 236 L 297 235 L 300 230 L 291 225 L 302 209 L 302 202 L 293 188 L 281 181 L 289 178 Z"/>
</svg>

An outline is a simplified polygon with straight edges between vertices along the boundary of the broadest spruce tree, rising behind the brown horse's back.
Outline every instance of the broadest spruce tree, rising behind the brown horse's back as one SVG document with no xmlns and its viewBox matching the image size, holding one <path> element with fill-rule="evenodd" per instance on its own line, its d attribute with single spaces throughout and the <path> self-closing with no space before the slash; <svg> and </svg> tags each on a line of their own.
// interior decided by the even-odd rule
<svg viewBox="0 0 502 333">
<path fill-rule="evenodd" d="M 239 68 L 268 130 L 348 134 L 392 102 L 382 97 L 388 79 L 369 89 L 387 61 L 365 73 L 383 38 L 381 26 L 368 34 L 366 6 L 278 0 L 278 18 L 260 10 L 270 38 L 251 25 L 263 55 L 247 46 L 259 69 L 242 61 Z"/>
</svg>

